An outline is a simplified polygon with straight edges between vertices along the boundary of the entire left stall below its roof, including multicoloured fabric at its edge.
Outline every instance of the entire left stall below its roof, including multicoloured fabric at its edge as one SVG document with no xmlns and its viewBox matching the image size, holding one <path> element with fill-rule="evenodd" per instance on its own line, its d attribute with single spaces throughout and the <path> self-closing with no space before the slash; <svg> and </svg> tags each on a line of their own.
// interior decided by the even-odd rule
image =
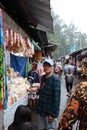
<svg viewBox="0 0 87 130">
<path fill-rule="evenodd" d="M 7 130 L 16 108 L 20 104 L 28 105 L 27 90 L 31 85 L 25 73 L 27 59 L 34 55 L 34 46 L 28 36 L 12 28 L 4 29 L 3 24 L 0 19 L 0 109 L 3 109 L 2 127 Z"/>
</svg>

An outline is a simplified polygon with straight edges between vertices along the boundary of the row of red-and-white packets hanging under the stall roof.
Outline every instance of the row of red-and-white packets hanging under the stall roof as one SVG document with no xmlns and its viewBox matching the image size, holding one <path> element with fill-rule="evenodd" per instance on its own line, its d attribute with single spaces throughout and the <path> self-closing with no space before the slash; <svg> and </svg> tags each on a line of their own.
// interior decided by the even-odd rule
<svg viewBox="0 0 87 130">
<path fill-rule="evenodd" d="M 12 29 L 5 30 L 5 45 L 6 50 L 11 53 L 30 57 L 34 54 L 34 47 L 32 46 L 27 36 L 22 36 L 20 33 Z"/>
</svg>

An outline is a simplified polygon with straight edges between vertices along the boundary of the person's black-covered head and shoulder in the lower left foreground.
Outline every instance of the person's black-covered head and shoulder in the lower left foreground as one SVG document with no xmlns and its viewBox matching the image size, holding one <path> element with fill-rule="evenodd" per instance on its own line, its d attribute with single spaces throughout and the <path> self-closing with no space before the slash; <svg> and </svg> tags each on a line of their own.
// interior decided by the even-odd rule
<svg viewBox="0 0 87 130">
<path fill-rule="evenodd" d="M 24 122 L 32 122 L 32 113 L 28 106 L 19 105 L 15 111 L 14 120 L 8 130 L 16 130 Z"/>
</svg>

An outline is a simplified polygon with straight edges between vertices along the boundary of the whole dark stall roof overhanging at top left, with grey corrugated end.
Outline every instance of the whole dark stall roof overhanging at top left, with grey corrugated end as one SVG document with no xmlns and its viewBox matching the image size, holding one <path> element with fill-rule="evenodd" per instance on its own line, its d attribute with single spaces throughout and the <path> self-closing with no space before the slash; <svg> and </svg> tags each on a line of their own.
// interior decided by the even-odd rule
<svg viewBox="0 0 87 130">
<path fill-rule="evenodd" d="M 0 0 L 0 7 L 28 35 L 32 29 L 53 32 L 50 0 Z"/>
</svg>

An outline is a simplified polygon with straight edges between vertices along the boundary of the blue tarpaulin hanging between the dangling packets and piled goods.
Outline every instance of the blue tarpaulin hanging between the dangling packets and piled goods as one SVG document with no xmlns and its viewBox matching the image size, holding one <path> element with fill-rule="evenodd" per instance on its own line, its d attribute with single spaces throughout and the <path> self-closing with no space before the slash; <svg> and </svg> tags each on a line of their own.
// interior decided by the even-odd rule
<svg viewBox="0 0 87 130">
<path fill-rule="evenodd" d="M 15 72 L 19 72 L 21 77 L 26 76 L 27 57 L 19 57 L 10 53 L 10 66 Z"/>
</svg>

